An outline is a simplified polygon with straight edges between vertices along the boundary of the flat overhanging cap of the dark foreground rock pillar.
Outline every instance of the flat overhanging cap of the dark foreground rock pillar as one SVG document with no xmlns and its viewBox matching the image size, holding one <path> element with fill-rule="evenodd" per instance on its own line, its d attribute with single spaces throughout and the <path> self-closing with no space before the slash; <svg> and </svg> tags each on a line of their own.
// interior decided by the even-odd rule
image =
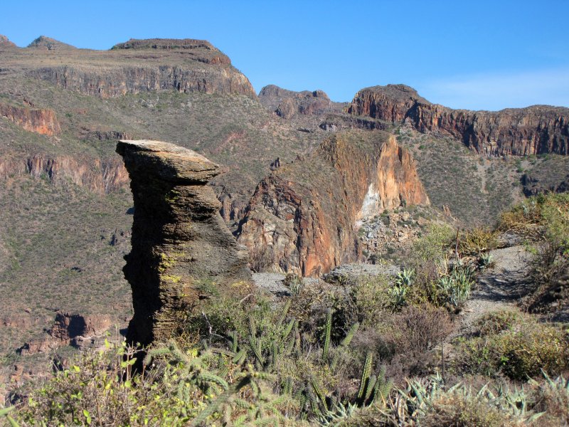
<svg viewBox="0 0 569 427">
<path fill-rule="evenodd" d="M 129 174 L 153 174 L 179 183 L 206 183 L 220 174 L 219 165 L 191 149 L 169 142 L 121 139 L 117 153 L 124 158 Z"/>
</svg>

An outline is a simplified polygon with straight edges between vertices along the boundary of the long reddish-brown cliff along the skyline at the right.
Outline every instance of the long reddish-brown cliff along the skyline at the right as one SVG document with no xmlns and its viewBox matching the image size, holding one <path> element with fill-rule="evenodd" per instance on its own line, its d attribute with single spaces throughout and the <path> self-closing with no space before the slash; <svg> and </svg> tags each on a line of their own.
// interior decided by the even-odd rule
<svg viewBox="0 0 569 427">
<path fill-rule="evenodd" d="M 498 112 L 452 110 L 428 102 L 405 85 L 360 90 L 348 112 L 409 122 L 420 132 L 447 132 L 479 154 L 569 154 L 569 109 L 534 105 Z"/>
</svg>

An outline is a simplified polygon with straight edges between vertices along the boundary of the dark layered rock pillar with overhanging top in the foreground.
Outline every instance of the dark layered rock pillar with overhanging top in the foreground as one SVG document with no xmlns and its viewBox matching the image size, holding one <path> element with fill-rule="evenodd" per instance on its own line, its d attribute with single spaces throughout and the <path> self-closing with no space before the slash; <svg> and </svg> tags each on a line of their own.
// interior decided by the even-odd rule
<svg viewBox="0 0 569 427">
<path fill-rule="evenodd" d="M 134 197 L 132 252 L 124 277 L 132 288 L 129 342 L 171 337 L 199 300 L 240 292 L 250 282 L 248 254 L 219 214 L 208 181 L 220 173 L 206 157 L 174 144 L 120 141 Z"/>
</svg>

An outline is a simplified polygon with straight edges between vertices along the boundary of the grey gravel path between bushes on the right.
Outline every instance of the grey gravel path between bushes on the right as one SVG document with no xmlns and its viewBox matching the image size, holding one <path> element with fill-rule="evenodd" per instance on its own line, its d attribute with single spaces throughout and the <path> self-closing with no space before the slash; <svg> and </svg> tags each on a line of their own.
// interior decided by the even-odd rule
<svg viewBox="0 0 569 427">
<path fill-rule="evenodd" d="M 533 255 L 523 246 L 496 249 L 490 253 L 494 265 L 478 275 L 476 288 L 464 306 L 454 337 L 473 332 L 477 320 L 486 313 L 519 310 L 516 302 L 528 292 L 526 275 Z"/>
</svg>

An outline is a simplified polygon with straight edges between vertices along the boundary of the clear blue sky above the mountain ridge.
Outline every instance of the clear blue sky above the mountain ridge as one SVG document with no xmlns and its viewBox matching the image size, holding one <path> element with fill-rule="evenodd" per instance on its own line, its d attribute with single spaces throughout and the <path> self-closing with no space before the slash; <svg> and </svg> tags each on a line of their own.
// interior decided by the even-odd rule
<svg viewBox="0 0 569 427">
<path fill-rule="evenodd" d="M 0 33 L 107 49 L 129 38 L 203 38 L 257 92 L 270 83 L 351 100 L 405 83 L 432 102 L 569 107 L 569 0 L 4 0 Z M 1 58 L 0 58 L 1 65 Z"/>
</svg>

